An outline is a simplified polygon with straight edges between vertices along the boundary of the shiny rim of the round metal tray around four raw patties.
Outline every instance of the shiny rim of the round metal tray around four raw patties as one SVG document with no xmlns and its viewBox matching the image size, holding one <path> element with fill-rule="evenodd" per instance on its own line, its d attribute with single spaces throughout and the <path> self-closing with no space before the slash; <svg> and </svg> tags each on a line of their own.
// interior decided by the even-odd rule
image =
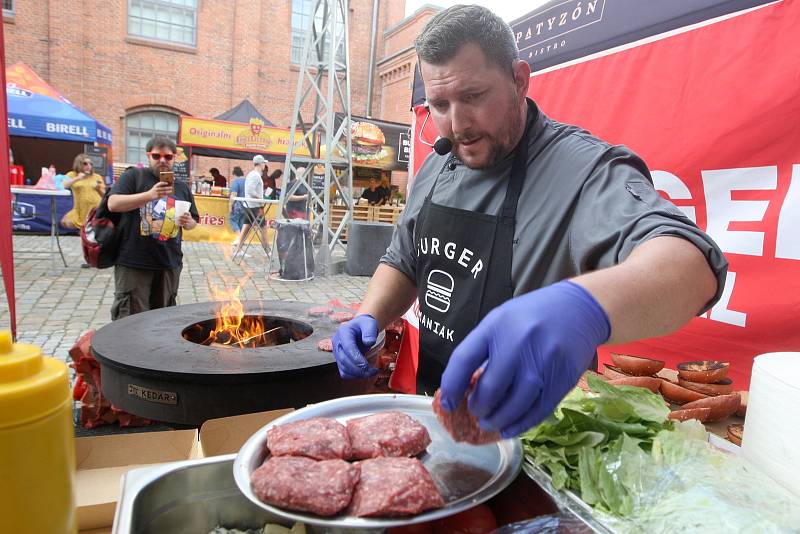
<svg viewBox="0 0 800 534">
<path fill-rule="evenodd" d="M 306 524 L 328 528 L 386 529 L 433 521 L 471 508 L 472 506 L 494 497 L 505 489 L 517 477 L 519 471 L 522 469 L 522 444 L 520 440 L 514 438 L 497 442 L 494 445 L 498 450 L 497 454 L 500 460 L 500 469 L 498 472 L 494 473 L 492 478 L 489 479 L 479 491 L 452 501 L 444 508 L 430 510 L 411 517 L 358 518 L 335 516 L 332 518 L 325 518 L 271 506 L 261 502 L 253 493 L 250 487 L 250 474 L 253 470 L 253 465 L 257 464 L 256 467 L 260 465 L 259 455 L 262 455 L 261 459 L 263 459 L 263 448 L 267 439 L 267 431 L 270 428 L 292 421 L 308 419 L 310 417 L 331 416 L 330 414 L 337 409 L 346 410 L 348 407 L 352 408 L 351 411 L 354 412 L 354 414 L 361 414 L 364 411 L 369 411 L 370 405 L 377 404 L 380 406 L 388 402 L 391 402 L 390 407 L 384 408 L 383 410 L 376 409 L 375 412 L 388 409 L 403 411 L 404 408 L 431 409 L 433 398 L 421 395 L 403 394 L 358 395 L 354 397 L 341 397 L 290 412 L 262 427 L 253 434 L 239 450 L 233 463 L 233 477 L 236 481 L 236 485 L 239 487 L 242 494 L 257 506 L 291 521 L 300 521 Z M 333 417 L 336 418 L 335 416 Z M 438 425 L 438 421 L 436 424 Z"/>
</svg>

